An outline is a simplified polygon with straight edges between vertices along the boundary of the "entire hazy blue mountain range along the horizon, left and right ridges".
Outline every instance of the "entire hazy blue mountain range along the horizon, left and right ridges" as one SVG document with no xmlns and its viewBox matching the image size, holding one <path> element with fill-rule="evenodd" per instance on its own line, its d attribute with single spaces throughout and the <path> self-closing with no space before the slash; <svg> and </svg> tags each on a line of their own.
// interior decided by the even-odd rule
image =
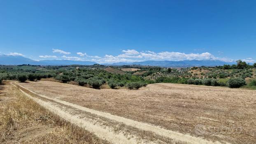
<svg viewBox="0 0 256 144">
<path fill-rule="evenodd" d="M 31 60 L 23 56 L 0 55 L 0 65 L 94 65 L 91 61 L 75 61 L 75 60 Z M 102 65 L 149 65 L 161 67 L 192 67 L 192 66 L 217 66 L 217 65 L 233 65 L 235 62 L 224 62 L 221 60 L 180 60 L 180 61 L 154 61 L 147 60 L 133 63 L 105 63 Z"/>
</svg>

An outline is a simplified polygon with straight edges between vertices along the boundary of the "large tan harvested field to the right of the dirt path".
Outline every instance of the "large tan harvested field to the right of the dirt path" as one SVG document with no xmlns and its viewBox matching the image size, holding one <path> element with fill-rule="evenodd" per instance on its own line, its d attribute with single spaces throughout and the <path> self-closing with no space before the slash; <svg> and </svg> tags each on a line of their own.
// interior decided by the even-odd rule
<svg viewBox="0 0 256 144">
<path fill-rule="evenodd" d="M 97 90 L 52 81 L 18 84 L 50 98 L 194 137 L 256 142 L 256 91 L 183 84 L 150 84 L 139 90 Z M 198 124 L 203 134 L 195 131 Z"/>
</svg>

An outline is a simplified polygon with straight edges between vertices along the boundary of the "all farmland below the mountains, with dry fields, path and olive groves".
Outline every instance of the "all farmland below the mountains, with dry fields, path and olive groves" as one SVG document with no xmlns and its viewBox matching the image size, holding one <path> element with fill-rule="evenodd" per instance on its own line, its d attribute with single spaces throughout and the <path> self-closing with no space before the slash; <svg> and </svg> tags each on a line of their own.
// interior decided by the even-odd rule
<svg viewBox="0 0 256 144">
<path fill-rule="evenodd" d="M 63 143 L 253 144 L 255 72 L 239 63 L 187 68 L 0 66 L 0 104 L 5 109 L 1 142 L 33 143 L 40 137 L 37 142 L 58 143 L 54 137 L 66 137 Z M 29 121 L 23 113 L 10 117 L 13 111 L 24 111 Z M 38 137 L 17 136 L 24 130 L 19 125 L 31 124 Z M 10 129 L 12 125 L 16 127 Z M 86 138 L 77 141 L 81 135 Z"/>
</svg>

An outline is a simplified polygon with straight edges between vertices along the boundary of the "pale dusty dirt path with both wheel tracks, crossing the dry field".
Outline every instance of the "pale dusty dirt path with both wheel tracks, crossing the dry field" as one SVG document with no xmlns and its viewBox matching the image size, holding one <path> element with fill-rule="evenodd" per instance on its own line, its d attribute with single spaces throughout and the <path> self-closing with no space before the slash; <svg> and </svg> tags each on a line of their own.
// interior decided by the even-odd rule
<svg viewBox="0 0 256 144">
<path fill-rule="evenodd" d="M 95 135 L 102 139 L 106 139 L 115 144 L 131 144 L 131 143 L 178 143 L 178 144 L 221 144 L 220 142 L 211 142 L 200 137 L 192 137 L 191 135 L 184 135 L 179 132 L 174 132 L 171 130 L 166 130 L 158 126 L 150 125 L 147 123 L 142 123 L 134 121 L 128 118 L 123 118 L 121 116 L 115 116 L 106 112 L 96 111 L 93 109 L 88 109 L 86 107 L 81 107 L 79 105 L 72 104 L 63 100 L 56 98 L 49 98 L 45 95 L 37 94 L 33 91 L 28 90 L 27 88 L 20 86 L 17 83 L 13 83 L 14 86 L 19 87 L 19 89 L 25 93 L 29 98 L 32 98 L 40 105 L 46 107 L 47 109 L 58 114 L 62 118 L 85 127 L 87 130 L 94 132 Z M 31 96 L 33 95 L 33 96 Z M 85 114 L 87 113 L 87 114 Z M 94 115 L 96 120 L 89 115 Z M 103 119 L 102 119 L 103 118 Z M 104 119 L 105 118 L 105 119 Z M 100 122 L 98 119 L 101 119 Z M 110 123 L 109 121 L 115 121 L 113 125 L 102 125 L 102 123 Z M 113 127 L 117 125 L 122 125 L 123 129 L 119 132 L 115 132 Z M 124 128 L 124 125 L 126 125 Z M 122 129 L 121 128 L 121 129 Z M 120 128 L 118 128 L 120 129 Z M 149 136 L 143 135 L 143 138 L 140 137 L 137 133 L 142 130 L 149 132 Z M 131 132 L 133 131 L 133 132 Z M 152 134 L 153 133 L 153 134 Z M 154 138 L 152 139 L 152 135 Z M 158 136 L 156 136 L 158 135 Z M 150 138 L 151 137 L 151 138 Z"/>
</svg>

